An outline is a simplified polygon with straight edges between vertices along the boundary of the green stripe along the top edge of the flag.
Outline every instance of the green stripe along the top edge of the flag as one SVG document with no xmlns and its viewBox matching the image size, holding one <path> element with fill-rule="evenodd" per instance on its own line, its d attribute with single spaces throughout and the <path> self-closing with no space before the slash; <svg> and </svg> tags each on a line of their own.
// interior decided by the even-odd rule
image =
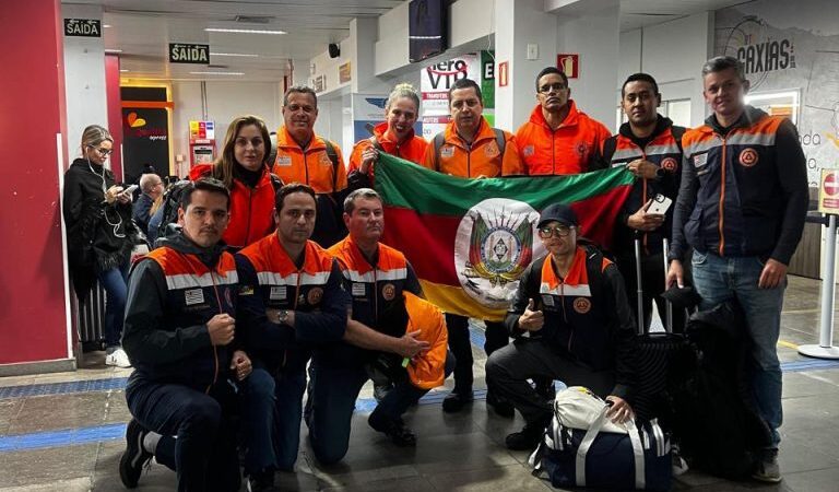
<svg viewBox="0 0 839 492">
<path fill-rule="evenodd" d="M 437 215 L 463 215 L 488 198 L 519 200 L 542 210 L 557 198 L 565 203 L 586 200 L 619 186 L 631 186 L 634 179 L 623 166 L 567 176 L 465 179 L 386 153 L 376 164 L 376 190 L 386 203 Z"/>
</svg>

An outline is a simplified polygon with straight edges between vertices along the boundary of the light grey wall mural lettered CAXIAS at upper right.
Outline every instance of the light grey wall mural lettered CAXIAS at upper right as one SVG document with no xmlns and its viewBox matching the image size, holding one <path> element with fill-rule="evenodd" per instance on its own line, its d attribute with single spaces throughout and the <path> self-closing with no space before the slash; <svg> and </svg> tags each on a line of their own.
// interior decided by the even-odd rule
<svg viewBox="0 0 839 492">
<path fill-rule="evenodd" d="M 828 14 L 835 10 L 829 0 L 801 0 L 794 11 L 758 0 L 718 10 L 714 19 L 714 50 L 743 62 L 751 96 L 771 102 L 801 94 L 789 97 L 797 107 L 756 106 L 797 116 L 812 187 L 818 186 L 819 169 L 839 167 L 839 22 Z"/>
</svg>

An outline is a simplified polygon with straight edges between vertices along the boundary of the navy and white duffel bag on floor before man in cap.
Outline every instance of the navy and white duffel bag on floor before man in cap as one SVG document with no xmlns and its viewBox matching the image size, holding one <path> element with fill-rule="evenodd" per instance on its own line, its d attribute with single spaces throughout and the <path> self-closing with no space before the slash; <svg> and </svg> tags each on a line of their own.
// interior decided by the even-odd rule
<svg viewBox="0 0 839 492">
<path fill-rule="evenodd" d="M 554 487 L 670 490 L 670 438 L 658 422 L 615 424 L 607 411 L 587 388 L 559 391 L 554 419 L 529 459 L 533 475 L 546 476 Z"/>
</svg>

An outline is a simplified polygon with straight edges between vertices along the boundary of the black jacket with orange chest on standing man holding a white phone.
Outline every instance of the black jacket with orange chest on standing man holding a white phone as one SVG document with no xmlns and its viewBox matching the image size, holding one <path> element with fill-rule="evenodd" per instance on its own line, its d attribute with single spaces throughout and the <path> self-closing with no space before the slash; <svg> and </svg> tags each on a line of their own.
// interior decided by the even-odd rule
<svg viewBox="0 0 839 492">
<path fill-rule="evenodd" d="M 616 136 L 603 142 L 600 155 L 603 167 L 626 166 L 630 162 L 643 159 L 655 164 L 662 176 L 654 179 L 636 178 L 624 208 L 617 215 L 613 249 L 618 255 L 633 255 L 635 230 L 629 227 L 629 215 L 638 211 L 647 200 L 663 195 L 673 202 L 678 192 L 678 181 L 682 175 L 682 149 L 680 148 L 685 129 L 674 127 L 670 118 L 659 115 L 655 129 L 647 139 L 639 139 L 633 133 L 628 122 L 621 125 Z M 641 254 L 653 255 L 662 250 L 662 239 L 671 237 L 673 227 L 673 209 L 671 206 L 664 218 L 664 223 L 655 231 L 641 232 Z"/>
</svg>

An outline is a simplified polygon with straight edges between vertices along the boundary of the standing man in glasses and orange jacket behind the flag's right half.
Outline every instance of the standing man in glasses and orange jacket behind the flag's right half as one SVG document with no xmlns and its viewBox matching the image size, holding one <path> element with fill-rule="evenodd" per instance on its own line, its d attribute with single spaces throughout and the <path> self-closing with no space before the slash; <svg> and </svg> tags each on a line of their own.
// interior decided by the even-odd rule
<svg viewBox="0 0 839 492">
<path fill-rule="evenodd" d="M 612 133 L 577 109 L 570 96 L 565 73 L 555 67 L 539 72 L 539 105 L 516 132 L 525 174 L 579 174 L 596 168 L 598 152 Z"/>
</svg>

